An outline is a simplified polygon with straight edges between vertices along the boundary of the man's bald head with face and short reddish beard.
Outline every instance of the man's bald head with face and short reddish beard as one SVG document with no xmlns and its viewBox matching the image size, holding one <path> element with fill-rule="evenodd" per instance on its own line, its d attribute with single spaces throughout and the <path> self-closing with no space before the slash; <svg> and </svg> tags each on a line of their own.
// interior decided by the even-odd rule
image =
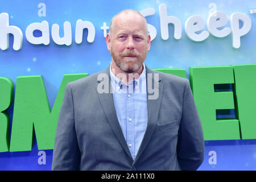
<svg viewBox="0 0 256 182">
<path fill-rule="evenodd" d="M 110 23 L 106 44 L 112 56 L 112 69 L 119 73 L 138 73 L 143 70 L 147 51 L 150 50 L 147 21 L 134 10 L 123 10 Z"/>
</svg>

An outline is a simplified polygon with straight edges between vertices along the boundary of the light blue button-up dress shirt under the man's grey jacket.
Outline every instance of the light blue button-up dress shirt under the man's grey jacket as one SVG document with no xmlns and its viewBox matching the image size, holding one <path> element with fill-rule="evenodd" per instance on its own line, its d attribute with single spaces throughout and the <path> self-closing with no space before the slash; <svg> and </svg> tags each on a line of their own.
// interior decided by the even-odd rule
<svg viewBox="0 0 256 182">
<path fill-rule="evenodd" d="M 137 80 L 131 81 L 129 85 L 126 85 L 114 75 L 110 65 L 110 82 L 117 118 L 131 156 L 135 160 L 147 127 L 145 65 L 143 64 L 141 76 Z"/>
</svg>

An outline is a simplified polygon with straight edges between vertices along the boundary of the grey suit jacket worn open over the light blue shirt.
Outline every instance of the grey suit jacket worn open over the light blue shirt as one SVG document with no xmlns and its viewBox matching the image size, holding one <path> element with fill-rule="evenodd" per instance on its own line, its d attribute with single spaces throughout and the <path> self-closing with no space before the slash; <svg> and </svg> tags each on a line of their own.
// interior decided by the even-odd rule
<svg viewBox="0 0 256 182">
<path fill-rule="evenodd" d="M 204 159 L 203 130 L 189 81 L 146 67 L 147 84 L 159 88 L 148 99 L 148 123 L 133 160 L 119 125 L 109 83 L 109 67 L 69 82 L 57 123 L 52 170 L 196 170 Z M 150 73 L 150 74 L 148 74 Z M 154 74 L 159 79 L 154 79 Z M 151 76 L 152 75 L 152 76 Z M 148 93 L 148 97 L 150 93 Z"/>
</svg>

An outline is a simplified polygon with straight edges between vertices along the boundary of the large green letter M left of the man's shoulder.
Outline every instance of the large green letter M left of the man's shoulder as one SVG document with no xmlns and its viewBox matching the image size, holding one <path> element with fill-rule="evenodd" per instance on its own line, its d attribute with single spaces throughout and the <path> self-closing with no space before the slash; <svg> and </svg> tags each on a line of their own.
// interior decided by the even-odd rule
<svg viewBox="0 0 256 182">
<path fill-rule="evenodd" d="M 32 148 L 33 125 L 39 150 L 53 149 L 57 120 L 68 82 L 87 76 L 64 75 L 52 111 L 42 76 L 20 76 L 16 81 L 13 126 L 10 151 L 28 151 Z"/>
</svg>

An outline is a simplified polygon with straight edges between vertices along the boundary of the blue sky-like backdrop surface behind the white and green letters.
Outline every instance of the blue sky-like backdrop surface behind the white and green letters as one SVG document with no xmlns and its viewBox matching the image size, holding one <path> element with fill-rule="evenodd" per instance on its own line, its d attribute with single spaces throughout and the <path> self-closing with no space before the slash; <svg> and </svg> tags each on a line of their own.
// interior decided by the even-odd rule
<svg viewBox="0 0 256 182">
<path fill-rule="evenodd" d="M 40 4 L 41 3 L 41 4 Z M 43 4 L 42 4 L 43 3 Z M 181 39 L 174 39 L 174 28 L 169 25 L 169 38 L 163 40 L 160 34 L 159 5 L 167 6 L 167 15 L 176 16 L 182 24 Z M 40 4 L 40 5 L 39 5 Z M 142 11 L 154 9 L 155 14 L 147 16 L 148 23 L 156 28 L 157 34 L 151 42 L 146 64 L 149 68 L 184 68 L 255 64 L 256 60 L 256 1 L 239 0 L 137 0 L 137 1 L 0 1 L 0 13 L 9 14 L 10 26 L 17 26 L 23 32 L 22 48 L 13 49 L 13 35 L 10 35 L 10 47 L 0 49 L 0 76 L 8 77 L 15 82 L 18 76 L 42 75 L 46 86 L 49 104 L 52 108 L 61 81 L 66 73 L 96 73 L 108 67 L 111 61 L 106 48 L 103 23 L 109 26 L 111 18 L 123 9 Z M 193 42 L 185 35 L 185 21 L 192 15 L 200 15 L 205 21 L 213 10 L 221 10 L 228 16 L 236 12 L 247 14 L 252 22 L 251 30 L 241 37 L 241 47 L 232 47 L 232 35 L 216 38 L 212 35 L 203 42 Z M 95 27 L 95 38 L 88 43 L 87 32 L 81 44 L 75 42 L 77 19 L 87 20 Z M 26 28 L 35 22 L 46 20 L 49 23 L 50 43 L 35 45 L 28 42 Z M 63 36 L 63 23 L 68 21 L 72 26 L 71 46 L 60 46 L 51 38 L 52 24 L 60 26 L 60 37 Z M 34 32 L 40 36 L 40 32 Z M 1 88 L 0 88 L 1 89 Z M 10 121 L 13 117 L 13 104 L 7 110 Z M 11 133 L 11 123 L 10 123 Z M 52 150 L 39 151 L 36 139 L 31 151 L 1 152 L 0 170 L 50 170 Z M 42 162 L 42 156 L 46 162 Z M 199 170 L 255 170 L 256 139 L 251 140 L 217 140 L 205 141 L 205 160 Z"/>
</svg>

